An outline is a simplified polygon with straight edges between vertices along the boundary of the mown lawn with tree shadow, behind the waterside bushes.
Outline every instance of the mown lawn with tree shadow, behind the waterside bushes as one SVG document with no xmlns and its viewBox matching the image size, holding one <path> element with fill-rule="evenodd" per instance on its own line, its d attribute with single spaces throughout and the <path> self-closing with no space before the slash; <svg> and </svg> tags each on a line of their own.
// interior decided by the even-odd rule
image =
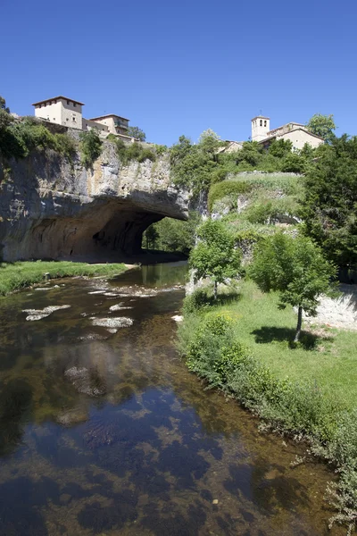
<svg viewBox="0 0 357 536">
<path fill-rule="evenodd" d="M 328 397 L 357 406 L 357 331 L 305 324 L 301 343 L 292 348 L 293 308 L 279 309 L 278 294 L 262 294 L 253 281 L 242 281 L 238 299 L 217 312 L 235 319 L 237 339 L 279 378 L 316 381 Z"/>
</svg>

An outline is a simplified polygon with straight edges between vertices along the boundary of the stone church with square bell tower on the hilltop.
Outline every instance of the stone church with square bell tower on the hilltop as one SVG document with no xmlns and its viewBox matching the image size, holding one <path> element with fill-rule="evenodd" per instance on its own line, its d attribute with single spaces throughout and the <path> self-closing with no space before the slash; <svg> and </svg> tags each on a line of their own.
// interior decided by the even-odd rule
<svg viewBox="0 0 357 536">
<path fill-rule="evenodd" d="M 290 122 L 270 130 L 270 118 L 257 115 L 252 119 L 252 141 L 257 141 L 268 148 L 274 139 L 290 140 L 293 149 L 302 149 L 305 143 L 311 147 L 319 147 L 324 143 L 323 138 L 309 132 L 302 123 Z"/>
</svg>

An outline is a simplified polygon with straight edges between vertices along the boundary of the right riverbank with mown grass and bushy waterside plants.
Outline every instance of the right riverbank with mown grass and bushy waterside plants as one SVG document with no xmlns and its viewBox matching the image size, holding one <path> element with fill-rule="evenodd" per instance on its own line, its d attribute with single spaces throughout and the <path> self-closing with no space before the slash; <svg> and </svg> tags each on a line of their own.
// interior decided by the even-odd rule
<svg viewBox="0 0 357 536">
<path fill-rule="evenodd" d="M 357 333 L 315 329 L 290 341 L 296 317 L 278 309 L 252 281 L 218 304 L 196 295 L 185 304 L 179 347 L 187 366 L 279 431 L 308 438 L 341 470 L 336 521 L 357 520 Z"/>
</svg>

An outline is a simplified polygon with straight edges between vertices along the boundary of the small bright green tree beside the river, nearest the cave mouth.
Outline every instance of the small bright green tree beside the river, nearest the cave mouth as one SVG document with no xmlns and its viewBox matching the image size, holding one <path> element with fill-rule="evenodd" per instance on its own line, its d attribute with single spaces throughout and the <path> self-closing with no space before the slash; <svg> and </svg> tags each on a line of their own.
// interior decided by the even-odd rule
<svg viewBox="0 0 357 536">
<path fill-rule="evenodd" d="M 241 255 L 222 222 L 204 222 L 197 230 L 197 238 L 199 242 L 191 251 L 189 264 L 195 270 L 195 281 L 206 277 L 213 281 L 214 299 L 217 299 L 218 283 L 237 277 Z"/>
</svg>

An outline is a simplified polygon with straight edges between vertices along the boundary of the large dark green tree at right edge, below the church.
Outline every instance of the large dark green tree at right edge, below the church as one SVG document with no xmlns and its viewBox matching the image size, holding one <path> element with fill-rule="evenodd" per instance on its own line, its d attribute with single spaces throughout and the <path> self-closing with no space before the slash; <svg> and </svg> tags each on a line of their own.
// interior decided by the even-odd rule
<svg viewBox="0 0 357 536">
<path fill-rule="evenodd" d="M 304 232 L 339 266 L 357 264 L 357 137 L 324 146 L 307 173 Z"/>
</svg>

